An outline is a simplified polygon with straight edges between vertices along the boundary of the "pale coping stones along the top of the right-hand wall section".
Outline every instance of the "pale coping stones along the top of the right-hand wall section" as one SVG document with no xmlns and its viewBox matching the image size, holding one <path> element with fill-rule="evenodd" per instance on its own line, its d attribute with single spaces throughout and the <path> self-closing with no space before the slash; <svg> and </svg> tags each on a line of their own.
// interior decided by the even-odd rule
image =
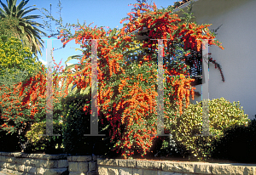
<svg viewBox="0 0 256 175">
<path fill-rule="evenodd" d="M 142 161 L 97 158 L 99 167 L 132 167 L 143 170 L 179 172 L 189 174 L 241 174 L 256 175 L 256 164 L 209 163 L 201 161 Z"/>
</svg>

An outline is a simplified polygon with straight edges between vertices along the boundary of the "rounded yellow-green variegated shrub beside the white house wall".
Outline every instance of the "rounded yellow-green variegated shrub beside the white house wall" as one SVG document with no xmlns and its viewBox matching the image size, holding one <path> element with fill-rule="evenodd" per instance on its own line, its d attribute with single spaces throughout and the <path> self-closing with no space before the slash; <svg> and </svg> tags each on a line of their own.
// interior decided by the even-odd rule
<svg viewBox="0 0 256 175">
<path fill-rule="evenodd" d="M 224 129 L 247 126 L 249 119 L 240 108 L 239 102 L 220 98 L 208 101 L 209 133 L 213 136 L 200 136 L 202 133 L 202 102 L 189 104 L 183 114 L 172 121 L 172 133 L 176 152 L 190 159 L 207 160 L 212 156 L 213 143 L 224 136 Z M 170 138 L 169 138 L 170 139 Z M 167 147 L 170 149 L 170 147 Z"/>
</svg>

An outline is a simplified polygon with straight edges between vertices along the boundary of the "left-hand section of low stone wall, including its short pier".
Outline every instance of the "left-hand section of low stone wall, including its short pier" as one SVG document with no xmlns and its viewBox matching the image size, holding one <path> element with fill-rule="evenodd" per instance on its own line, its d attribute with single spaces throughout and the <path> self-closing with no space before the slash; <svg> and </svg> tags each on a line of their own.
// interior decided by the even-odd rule
<svg viewBox="0 0 256 175">
<path fill-rule="evenodd" d="M 0 152 L 0 171 L 17 175 L 96 175 L 96 156 Z"/>
</svg>

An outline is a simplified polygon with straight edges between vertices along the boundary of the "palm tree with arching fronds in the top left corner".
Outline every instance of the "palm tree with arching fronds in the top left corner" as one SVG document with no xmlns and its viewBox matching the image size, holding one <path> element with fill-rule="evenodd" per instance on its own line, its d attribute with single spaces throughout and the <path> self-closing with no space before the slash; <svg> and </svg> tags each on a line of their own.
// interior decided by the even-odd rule
<svg viewBox="0 0 256 175">
<path fill-rule="evenodd" d="M 46 33 L 37 28 L 37 26 L 43 27 L 43 25 L 32 21 L 33 19 L 40 18 L 40 15 L 24 16 L 25 14 L 37 9 L 29 6 L 27 8 L 30 9 L 26 10 L 27 8 L 24 8 L 24 6 L 26 3 L 28 3 L 28 1 L 29 0 L 22 0 L 20 4 L 16 6 L 17 0 L 6 0 L 6 6 L 0 0 L 0 3 L 3 6 L 3 8 L 0 8 L 0 20 L 18 20 L 18 25 L 15 27 L 16 33 L 14 36 L 22 39 L 22 42 L 31 48 L 33 54 L 37 56 L 39 52 L 39 54 L 42 55 L 41 48 L 44 48 L 44 41 L 40 37 L 40 34 L 44 34 L 44 36 L 46 36 Z"/>
</svg>

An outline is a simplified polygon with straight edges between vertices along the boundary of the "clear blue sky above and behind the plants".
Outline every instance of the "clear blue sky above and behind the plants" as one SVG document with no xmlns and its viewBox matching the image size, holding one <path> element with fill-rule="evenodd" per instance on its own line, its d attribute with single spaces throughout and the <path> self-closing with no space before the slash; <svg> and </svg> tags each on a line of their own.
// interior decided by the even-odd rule
<svg viewBox="0 0 256 175">
<path fill-rule="evenodd" d="M 167 8 L 169 5 L 173 5 L 174 0 L 148 0 L 148 3 L 155 3 L 157 8 Z M 20 1 L 18 1 L 20 3 Z M 29 3 L 26 4 L 25 7 L 36 5 L 36 8 L 46 8 L 49 10 L 49 4 L 51 4 L 51 14 L 55 17 L 55 19 L 59 20 L 60 14 L 58 7 L 58 0 L 30 0 Z M 86 25 L 94 22 L 91 26 L 109 26 L 110 28 L 121 28 L 122 25 L 119 21 L 122 18 L 127 16 L 127 13 L 131 12 L 131 8 L 133 6 L 128 6 L 130 3 L 136 3 L 135 0 L 61 0 L 61 18 L 63 20 L 63 25 L 66 23 L 77 24 L 79 20 L 80 24 L 83 24 L 84 21 Z M 27 15 L 39 14 L 42 15 L 40 11 L 35 10 Z M 43 20 L 49 19 L 39 19 L 37 20 L 39 23 L 44 24 Z M 52 29 L 55 30 L 55 22 L 52 22 Z M 105 29 L 107 30 L 107 29 Z M 47 31 L 46 31 L 47 32 Z M 49 32 L 47 32 L 49 33 Z M 43 39 L 49 39 L 48 37 L 43 37 Z M 46 41 L 44 40 L 44 50 L 43 56 L 39 56 L 39 60 L 46 64 Z M 53 48 L 61 48 L 62 43 L 60 40 L 52 40 Z M 54 51 L 54 58 L 56 63 L 59 63 L 62 59 L 61 65 L 64 65 L 67 57 L 81 54 L 80 51 L 75 51 L 74 48 L 79 48 L 78 44 L 75 44 L 74 41 L 68 42 L 65 48 L 61 48 L 59 50 Z M 69 63 L 78 63 L 78 61 L 73 60 Z"/>
</svg>

